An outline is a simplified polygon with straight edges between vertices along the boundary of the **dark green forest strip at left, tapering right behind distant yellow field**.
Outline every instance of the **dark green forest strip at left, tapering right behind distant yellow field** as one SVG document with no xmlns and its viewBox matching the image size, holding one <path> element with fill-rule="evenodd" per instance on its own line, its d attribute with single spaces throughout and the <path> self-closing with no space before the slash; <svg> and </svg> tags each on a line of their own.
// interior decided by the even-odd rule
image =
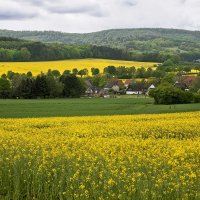
<svg viewBox="0 0 200 200">
<path fill-rule="evenodd" d="M 48 61 L 75 58 L 131 59 L 127 51 L 117 48 L 44 44 L 8 37 L 0 38 L 0 61 Z"/>
</svg>

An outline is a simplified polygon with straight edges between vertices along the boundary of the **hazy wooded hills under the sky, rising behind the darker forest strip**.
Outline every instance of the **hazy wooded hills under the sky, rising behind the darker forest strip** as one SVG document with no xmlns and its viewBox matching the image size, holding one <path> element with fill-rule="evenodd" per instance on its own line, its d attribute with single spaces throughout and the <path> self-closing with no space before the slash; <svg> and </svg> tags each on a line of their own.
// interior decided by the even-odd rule
<svg viewBox="0 0 200 200">
<path fill-rule="evenodd" d="M 45 43 L 118 48 L 129 52 L 130 55 L 121 56 L 121 58 L 126 60 L 163 62 L 167 59 L 172 59 L 176 63 L 180 61 L 191 62 L 200 59 L 199 31 L 118 29 L 87 34 L 72 34 L 53 31 L 0 30 L 1 36 Z M 79 48 L 81 47 L 78 46 Z M 89 49 L 89 52 L 93 53 L 93 50 Z M 101 57 L 103 56 L 101 55 Z"/>
</svg>

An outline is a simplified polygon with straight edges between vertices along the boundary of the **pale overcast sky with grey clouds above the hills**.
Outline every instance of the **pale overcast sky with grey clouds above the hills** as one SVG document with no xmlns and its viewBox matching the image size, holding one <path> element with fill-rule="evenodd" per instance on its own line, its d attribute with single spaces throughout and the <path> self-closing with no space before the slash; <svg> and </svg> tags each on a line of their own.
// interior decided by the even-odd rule
<svg viewBox="0 0 200 200">
<path fill-rule="evenodd" d="M 0 0 L 0 29 L 94 32 L 200 30 L 200 0 Z"/>
</svg>

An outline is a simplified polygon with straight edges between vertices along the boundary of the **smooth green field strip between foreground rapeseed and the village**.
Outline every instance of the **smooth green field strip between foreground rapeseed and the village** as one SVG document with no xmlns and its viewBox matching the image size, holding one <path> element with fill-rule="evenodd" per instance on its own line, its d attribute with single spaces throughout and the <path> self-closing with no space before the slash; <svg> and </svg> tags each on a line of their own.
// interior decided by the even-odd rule
<svg viewBox="0 0 200 200">
<path fill-rule="evenodd" d="M 200 111 L 200 104 L 154 105 L 151 98 L 0 100 L 0 118 L 133 115 Z"/>
</svg>

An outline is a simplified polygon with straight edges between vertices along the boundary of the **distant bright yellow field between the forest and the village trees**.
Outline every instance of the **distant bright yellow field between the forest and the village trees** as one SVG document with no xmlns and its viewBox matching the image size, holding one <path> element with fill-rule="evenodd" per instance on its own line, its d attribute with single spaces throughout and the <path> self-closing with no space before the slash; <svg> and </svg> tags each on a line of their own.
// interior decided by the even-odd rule
<svg viewBox="0 0 200 200">
<path fill-rule="evenodd" d="M 62 61 L 48 61 L 48 62 L 0 62 L 0 74 L 7 73 L 7 71 L 13 71 L 18 73 L 27 73 L 31 71 L 33 75 L 40 74 L 41 72 L 47 72 L 48 69 L 57 69 L 61 73 L 65 70 L 72 70 L 77 68 L 78 70 L 87 68 L 90 72 L 92 67 L 99 68 L 102 72 L 103 69 L 109 65 L 126 66 L 126 67 L 153 67 L 157 63 L 148 62 L 135 62 L 135 61 L 123 61 L 123 60 L 107 60 L 107 59 L 77 59 L 77 60 L 62 60 Z"/>
</svg>

